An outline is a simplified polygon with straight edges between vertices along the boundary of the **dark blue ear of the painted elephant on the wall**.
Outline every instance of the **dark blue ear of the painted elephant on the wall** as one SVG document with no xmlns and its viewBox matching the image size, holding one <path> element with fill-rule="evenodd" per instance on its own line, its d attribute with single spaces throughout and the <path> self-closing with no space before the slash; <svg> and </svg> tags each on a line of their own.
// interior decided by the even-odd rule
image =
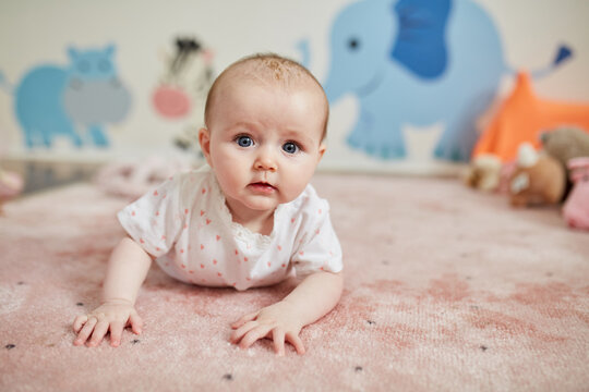
<svg viewBox="0 0 589 392">
<path fill-rule="evenodd" d="M 442 75 L 448 63 L 445 33 L 450 7 L 452 0 L 399 0 L 394 7 L 399 29 L 390 58 L 422 78 Z"/>
</svg>

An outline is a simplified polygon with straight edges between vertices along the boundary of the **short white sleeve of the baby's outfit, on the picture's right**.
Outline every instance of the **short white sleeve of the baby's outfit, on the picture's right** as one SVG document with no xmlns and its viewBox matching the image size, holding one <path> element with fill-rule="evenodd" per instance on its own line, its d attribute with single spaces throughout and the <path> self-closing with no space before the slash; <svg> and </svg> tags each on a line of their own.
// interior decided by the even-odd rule
<svg viewBox="0 0 589 392">
<path fill-rule="evenodd" d="M 317 198 L 304 211 L 291 261 L 298 277 L 313 272 L 340 272 L 341 246 L 329 219 L 329 204 Z"/>
</svg>

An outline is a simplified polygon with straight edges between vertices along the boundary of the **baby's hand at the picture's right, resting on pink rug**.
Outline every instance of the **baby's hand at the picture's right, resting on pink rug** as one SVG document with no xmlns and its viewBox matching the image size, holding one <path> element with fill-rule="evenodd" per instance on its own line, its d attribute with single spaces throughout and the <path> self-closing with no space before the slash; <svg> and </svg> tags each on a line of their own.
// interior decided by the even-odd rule
<svg viewBox="0 0 589 392">
<path fill-rule="evenodd" d="M 294 346 L 297 353 L 304 354 L 304 346 L 299 332 L 304 326 L 287 302 L 279 302 L 262 310 L 249 314 L 231 324 L 231 342 L 248 348 L 255 341 L 269 338 L 274 341 L 274 351 L 279 356 L 285 355 L 285 341 Z"/>
</svg>

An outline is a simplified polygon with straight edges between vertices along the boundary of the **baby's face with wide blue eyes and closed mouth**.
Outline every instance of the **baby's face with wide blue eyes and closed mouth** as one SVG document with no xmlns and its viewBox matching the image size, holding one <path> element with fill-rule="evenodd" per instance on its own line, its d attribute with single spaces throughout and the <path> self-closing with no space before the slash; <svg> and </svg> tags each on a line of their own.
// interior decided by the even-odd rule
<svg viewBox="0 0 589 392">
<path fill-rule="evenodd" d="M 232 211 L 274 210 L 301 194 L 325 151 L 324 98 L 316 86 L 228 84 L 201 130 L 203 152 Z"/>
</svg>

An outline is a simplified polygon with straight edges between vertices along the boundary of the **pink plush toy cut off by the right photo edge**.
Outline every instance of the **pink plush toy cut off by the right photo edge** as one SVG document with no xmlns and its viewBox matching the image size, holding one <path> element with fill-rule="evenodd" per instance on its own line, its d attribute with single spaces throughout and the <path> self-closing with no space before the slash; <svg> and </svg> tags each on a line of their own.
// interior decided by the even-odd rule
<svg viewBox="0 0 589 392">
<path fill-rule="evenodd" d="M 573 191 L 564 206 L 563 216 L 570 228 L 589 230 L 589 157 L 568 161 Z"/>
</svg>

